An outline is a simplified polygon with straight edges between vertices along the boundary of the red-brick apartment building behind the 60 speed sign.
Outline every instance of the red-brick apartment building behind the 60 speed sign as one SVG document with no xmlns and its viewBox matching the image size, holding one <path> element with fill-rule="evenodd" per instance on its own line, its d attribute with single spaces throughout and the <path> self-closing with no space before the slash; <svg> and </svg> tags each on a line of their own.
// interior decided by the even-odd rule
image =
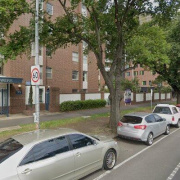
<svg viewBox="0 0 180 180">
<path fill-rule="evenodd" d="M 30 1 L 30 0 L 28 0 Z M 42 8 L 55 19 L 63 14 L 58 1 L 42 4 Z M 80 6 L 79 12 L 87 14 L 86 8 Z M 28 26 L 29 15 L 21 16 L 10 28 L 10 33 L 19 26 Z M 58 111 L 60 93 L 95 93 L 103 86 L 103 78 L 97 68 L 92 53 L 83 54 L 84 42 L 66 49 L 58 49 L 50 56 L 46 47 L 40 47 L 39 61 L 41 70 L 40 108 Z M 22 113 L 29 108 L 31 66 L 35 64 L 35 52 L 32 45 L 31 58 L 28 55 L 9 60 L 1 67 L 0 77 L 0 113 Z M 33 87 L 33 103 L 35 102 Z M 9 107 L 9 108 L 7 108 Z"/>
</svg>

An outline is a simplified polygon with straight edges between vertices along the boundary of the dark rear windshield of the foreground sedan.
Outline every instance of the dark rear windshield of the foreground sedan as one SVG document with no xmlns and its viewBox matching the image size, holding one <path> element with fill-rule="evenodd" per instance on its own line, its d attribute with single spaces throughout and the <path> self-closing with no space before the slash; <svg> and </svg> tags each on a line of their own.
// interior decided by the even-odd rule
<svg viewBox="0 0 180 180">
<path fill-rule="evenodd" d="M 18 152 L 22 147 L 23 145 L 14 139 L 7 139 L 0 143 L 0 163 Z"/>
</svg>

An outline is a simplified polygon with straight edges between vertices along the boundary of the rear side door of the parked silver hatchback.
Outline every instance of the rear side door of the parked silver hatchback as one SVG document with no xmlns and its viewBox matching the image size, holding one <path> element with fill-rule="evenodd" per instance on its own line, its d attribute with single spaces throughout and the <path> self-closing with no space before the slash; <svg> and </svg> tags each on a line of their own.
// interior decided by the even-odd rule
<svg viewBox="0 0 180 180">
<path fill-rule="evenodd" d="M 150 129 L 150 131 L 153 132 L 154 137 L 158 136 L 159 125 L 156 122 L 155 117 L 153 116 L 153 114 L 146 116 L 145 121 L 148 123 L 148 128 Z"/>
</svg>

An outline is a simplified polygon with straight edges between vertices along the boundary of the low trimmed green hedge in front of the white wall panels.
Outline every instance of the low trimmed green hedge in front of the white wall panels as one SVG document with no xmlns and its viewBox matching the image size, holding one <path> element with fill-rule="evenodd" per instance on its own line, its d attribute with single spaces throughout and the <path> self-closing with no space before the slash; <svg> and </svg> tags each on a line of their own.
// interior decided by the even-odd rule
<svg viewBox="0 0 180 180">
<path fill-rule="evenodd" d="M 60 111 L 75 111 L 80 109 L 92 109 L 105 107 L 106 101 L 97 100 L 85 100 L 85 101 L 65 101 L 60 104 Z"/>
</svg>

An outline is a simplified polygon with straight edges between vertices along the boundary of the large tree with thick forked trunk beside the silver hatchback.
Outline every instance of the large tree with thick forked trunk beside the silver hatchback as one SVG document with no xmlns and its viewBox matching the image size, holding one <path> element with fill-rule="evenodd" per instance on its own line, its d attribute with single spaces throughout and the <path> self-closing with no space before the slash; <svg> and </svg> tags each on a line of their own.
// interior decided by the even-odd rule
<svg viewBox="0 0 180 180">
<path fill-rule="evenodd" d="M 117 122 L 120 119 L 119 102 L 121 95 L 121 81 L 125 72 L 126 63 L 131 60 L 126 45 L 139 30 L 139 16 L 152 15 L 157 20 L 164 21 L 176 12 L 178 0 L 155 0 L 157 6 L 153 6 L 151 0 L 58 0 L 64 10 L 64 15 L 55 21 L 44 16 L 42 19 L 41 43 L 55 51 L 59 47 L 71 44 L 87 43 L 85 52 L 93 52 L 97 66 L 110 91 L 110 127 L 116 132 Z M 87 15 L 77 13 L 81 5 L 86 7 Z M 28 31 L 26 29 L 26 31 Z M 25 32 L 25 30 L 23 31 Z M 22 33 L 23 34 L 23 33 Z M 18 36 L 19 35 L 19 36 Z M 17 39 L 18 37 L 18 39 Z M 11 36 L 10 42 L 4 48 L 5 58 L 11 57 L 12 52 L 16 56 L 15 44 L 19 44 L 21 32 Z M 24 41 L 22 46 L 26 47 Z M 11 46 L 9 46 L 11 45 Z M 11 48 L 10 48 L 11 47 Z M 7 49 L 9 48 L 9 51 Z M 21 50 L 21 53 L 24 49 Z M 134 52 L 138 47 L 134 44 Z M 8 53 L 7 53 L 8 52 Z M 105 71 L 104 56 L 112 60 L 110 71 Z M 133 57 L 133 59 L 136 56 Z M 164 59 L 163 59 L 164 60 Z M 166 59 L 165 59 L 166 60 Z"/>
</svg>

